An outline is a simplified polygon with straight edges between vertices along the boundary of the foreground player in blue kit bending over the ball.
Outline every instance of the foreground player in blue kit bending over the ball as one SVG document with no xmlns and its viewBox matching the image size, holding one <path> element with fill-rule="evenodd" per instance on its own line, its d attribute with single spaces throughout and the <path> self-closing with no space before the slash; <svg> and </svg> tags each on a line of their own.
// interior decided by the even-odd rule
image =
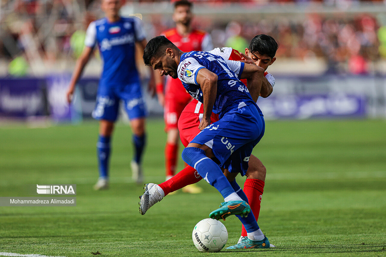
<svg viewBox="0 0 386 257">
<path fill-rule="evenodd" d="M 264 69 L 226 61 L 209 52 L 184 53 L 164 36 L 147 43 L 143 59 L 161 76 L 181 79 L 186 91 L 203 103 L 201 132 L 183 150 L 182 158 L 224 197 L 224 203 L 210 213 L 210 218 L 225 220 L 229 215 L 240 215 L 248 237 L 231 249 L 269 248 L 244 192 L 235 180 L 230 183 L 220 168 L 244 175 L 252 149 L 264 134 L 263 115 L 249 93 L 260 92 L 258 74 Z M 242 78 L 249 78 L 249 90 L 239 80 Z M 212 111 L 220 120 L 210 124 Z"/>
</svg>

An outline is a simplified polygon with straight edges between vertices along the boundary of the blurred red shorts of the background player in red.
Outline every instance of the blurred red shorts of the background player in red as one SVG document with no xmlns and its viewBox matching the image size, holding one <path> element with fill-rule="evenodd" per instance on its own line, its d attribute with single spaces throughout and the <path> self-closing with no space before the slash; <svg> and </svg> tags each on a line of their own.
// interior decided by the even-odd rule
<svg viewBox="0 0 386 257">
<path fill-rule="evenodd" d="M 178 128 L 179 116 L 190 101 L 191 98 L 185 101 L 176 101 L 175 98 L 165 98 L 164 120 L 166 132 L 171 128 Z"/>
</svg>

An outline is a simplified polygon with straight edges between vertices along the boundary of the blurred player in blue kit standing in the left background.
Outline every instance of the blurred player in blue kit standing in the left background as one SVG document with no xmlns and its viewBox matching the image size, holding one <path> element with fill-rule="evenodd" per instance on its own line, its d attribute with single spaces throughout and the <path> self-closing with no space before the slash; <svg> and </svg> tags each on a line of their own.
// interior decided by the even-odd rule
<svg viewBox="0 0 386 257">
<path fill-rule="evenodd" d="M 129 115 L 133 132 L 134 158 L 131 162 L 132 177 L 142 183 L 141 160 L 145 147 L 145 103 L 141 93 L 139 74 L 135 66 L 135 47 L 146 46 L 146 38 L 141 20 L 137 17 L 119 15 L 120 0 L 102 0 L 105 17 L 91 22 L 85 39 L 85 48 L 76 62 L 73 76 L 67 91 L 70 103 L 75 85 L 83 68 L 98 45 L 103 59 L 103 72 L 100 78 L 97 103 L 93 117 L 100 120 L 97 156 L 99 179 L 94 188 L 108 188 L 108 165 L 110 159 L 110 141 L 119 112 L 120 100 Z M 151 72 L 151 74 L 153 74 Z M 149 86 L 154 85 L 151 81 Z"/>
</svg>

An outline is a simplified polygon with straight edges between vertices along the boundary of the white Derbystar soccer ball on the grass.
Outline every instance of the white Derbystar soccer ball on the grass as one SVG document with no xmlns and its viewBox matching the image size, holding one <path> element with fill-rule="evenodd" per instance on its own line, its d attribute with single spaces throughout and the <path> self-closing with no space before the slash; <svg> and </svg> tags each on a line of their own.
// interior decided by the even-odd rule
<svg viewBox="0 0 386 257">
<path fill-rule="evenodd" d="M 207 218 L 193 228 L 192 239 L 201 252 L 220 252 L 228 241 L 228 231 L 220 221 Z"/>
</svg>

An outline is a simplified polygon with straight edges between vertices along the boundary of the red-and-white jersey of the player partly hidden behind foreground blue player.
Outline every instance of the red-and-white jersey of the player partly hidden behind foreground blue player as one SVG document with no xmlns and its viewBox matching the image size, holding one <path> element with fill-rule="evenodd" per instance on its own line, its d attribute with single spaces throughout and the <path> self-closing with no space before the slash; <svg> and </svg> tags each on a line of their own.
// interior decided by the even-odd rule
<svg viewBox="0 0 386 257">
<path fill-rule="evenodd" d="M 224 60 L 241 61 L 240 52 L 235 49 L 232 49 L 231 47 L 219 47 L 209 52 L 212 54 L 221 56 Z M 275 84 L 275 79 L 271 74 L 264 72 L 264 76 L 266 76 L 266 78 L 268 79 L 269 83 L 271 83 L 272 86 Z M 240 81 L 244 83 L 245 86 L 247 86 L 247 79 L 241 79 Z M 204 106 L 198 100 L 193 99 L 190 103 L 188 103 L 188 105 L 186 105 L 183 112 L 204 113 Z M 217 115 L 217 114 L 212 113 L 212 115 Z"/>
</svg>

